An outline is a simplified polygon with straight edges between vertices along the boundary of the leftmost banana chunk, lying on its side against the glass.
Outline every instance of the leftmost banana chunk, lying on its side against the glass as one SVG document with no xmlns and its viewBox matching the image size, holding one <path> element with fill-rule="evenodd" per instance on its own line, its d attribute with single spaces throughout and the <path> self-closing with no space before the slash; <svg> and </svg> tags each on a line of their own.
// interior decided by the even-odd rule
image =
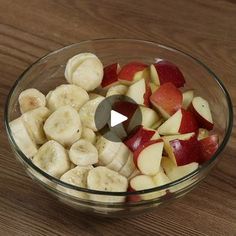
<svg viewBox="0 0 236 236">
<path fill-rule="evenodd" d="M 20 118 L 17 118 L 10 122 L 11 133 L 15 143 L 19 149 L 28 157 L 33 157 L 38 149 L 34 141 L 31 139 L 24 123 Z"/>
</svg>

